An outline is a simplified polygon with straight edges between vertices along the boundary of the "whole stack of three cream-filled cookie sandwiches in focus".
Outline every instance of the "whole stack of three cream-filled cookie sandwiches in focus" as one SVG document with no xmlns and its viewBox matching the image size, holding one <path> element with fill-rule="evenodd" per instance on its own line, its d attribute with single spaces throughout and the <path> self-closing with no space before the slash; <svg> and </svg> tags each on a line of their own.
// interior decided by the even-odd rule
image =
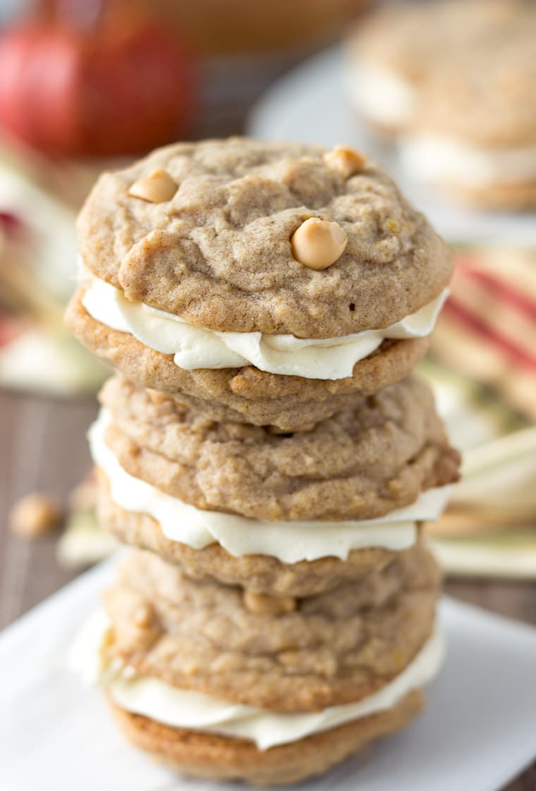
<svg viewBox="0 0 536 791">
<path fill-rule="evenodd" d="M 243 138 L 106 173 L 78 233 L 67 322 L 118 371 L 99 514 L 135 549 L 73 662 L 186 774 L 325 771 L 442 658 L 420 523 L 459 459 L 411 372 L 450 252 L 356 151 Z"/>
</svg>

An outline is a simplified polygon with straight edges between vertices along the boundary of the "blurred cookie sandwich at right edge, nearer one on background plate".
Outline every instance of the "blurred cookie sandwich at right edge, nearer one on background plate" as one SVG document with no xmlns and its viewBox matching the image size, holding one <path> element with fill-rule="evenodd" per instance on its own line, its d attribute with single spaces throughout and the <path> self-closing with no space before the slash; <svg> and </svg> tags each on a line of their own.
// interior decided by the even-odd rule
<svg viewBox="0 0 536 791">
<path fill-rule="evenodd" d="M 419 180 L 485 208 L 536 206 L 536 9 L 505 3 L 503 25 L 433 72 L 402 164 Z"/>
</svg>

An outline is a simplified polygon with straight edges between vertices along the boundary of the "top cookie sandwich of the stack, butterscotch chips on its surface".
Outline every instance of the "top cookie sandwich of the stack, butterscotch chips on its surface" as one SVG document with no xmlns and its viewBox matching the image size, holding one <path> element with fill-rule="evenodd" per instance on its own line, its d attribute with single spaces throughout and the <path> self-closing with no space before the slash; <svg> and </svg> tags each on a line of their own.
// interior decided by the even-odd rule
<svg viewBox="0 0 536 791">
<path fill-rule="evenodd" d="M 139 384 L 250 418 L 243 399 L 296 411 L 403 377 L 452 271 L 424 217 L 343 147 L 159 149 L 101 177 L 78 236 L 78 338 Z"/>
</svg>

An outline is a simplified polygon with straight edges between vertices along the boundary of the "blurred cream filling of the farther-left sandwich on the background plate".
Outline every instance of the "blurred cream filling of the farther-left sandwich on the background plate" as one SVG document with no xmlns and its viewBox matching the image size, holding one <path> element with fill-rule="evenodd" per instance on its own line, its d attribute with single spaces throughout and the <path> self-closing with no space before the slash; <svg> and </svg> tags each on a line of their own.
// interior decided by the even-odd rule
<svg viewBox="0 0 536 791">
<path fill-rule="evenodd" d="M 382 126 L 403 126 L 416 112 L 416 89 L 394 71 L 351 58 L 345 84 L 355 108 Z"/>
</svg>

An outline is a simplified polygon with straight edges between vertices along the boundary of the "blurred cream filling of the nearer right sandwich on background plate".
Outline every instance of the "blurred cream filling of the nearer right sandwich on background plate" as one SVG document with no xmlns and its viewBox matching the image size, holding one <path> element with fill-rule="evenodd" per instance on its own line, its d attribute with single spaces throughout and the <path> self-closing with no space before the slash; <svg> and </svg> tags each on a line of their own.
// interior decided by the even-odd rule
<svg viewBox="0 0 536 791">
<path fill-rule="evenodd" d="M 400 143 L 402 165 L 417 179 L 461 187 L 524 184 L 536 178 L 536 146 L 480 148 L 434 134 Z"/>
</svg>

